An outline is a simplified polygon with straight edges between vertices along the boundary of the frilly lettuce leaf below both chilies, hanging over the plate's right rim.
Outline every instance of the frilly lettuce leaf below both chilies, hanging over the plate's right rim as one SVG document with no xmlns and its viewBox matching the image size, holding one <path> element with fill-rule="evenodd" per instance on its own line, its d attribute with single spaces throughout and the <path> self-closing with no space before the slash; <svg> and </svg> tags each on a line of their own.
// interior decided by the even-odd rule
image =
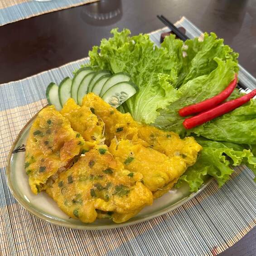
<svg viewBox="0 0 256 256">
<path fill-rule="evenodd" d="M 200 151 L 197 162 L 179 178 L 177 187 L 186 182 L 191 188 L 190 191 L 196 192 L 207 175 L 217 179 L 221 187 L 233 173 L 231 165 L 245 164 L 256 174 L 256 157 L 253 156 L 251 150 L 244 148 L 246 145 L 222 143 L 204 138 L 198 138 L 197 142 L 203 146 L 203 150 Z"/>
</svg>

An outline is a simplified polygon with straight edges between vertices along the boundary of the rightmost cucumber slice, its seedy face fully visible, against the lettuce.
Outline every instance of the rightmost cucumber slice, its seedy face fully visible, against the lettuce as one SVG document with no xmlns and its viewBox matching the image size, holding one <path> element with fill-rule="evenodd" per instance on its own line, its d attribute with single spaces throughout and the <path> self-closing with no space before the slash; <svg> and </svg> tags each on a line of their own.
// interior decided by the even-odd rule
<svg viewBox="0 0 256 256">
<path fill-rule="evenodd" d="M 137 90 L 138 87 L 130 81 L 119 82 L 110 87 L 101 98 L 110 106 L 117 108 L 127 99 L 132 97 Z"/>
</svg>

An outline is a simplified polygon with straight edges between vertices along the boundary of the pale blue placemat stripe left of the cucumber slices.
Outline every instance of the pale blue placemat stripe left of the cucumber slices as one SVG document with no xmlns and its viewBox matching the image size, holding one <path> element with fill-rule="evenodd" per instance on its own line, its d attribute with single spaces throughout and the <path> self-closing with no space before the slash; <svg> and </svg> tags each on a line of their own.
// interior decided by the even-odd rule
<svg viewBox="0 0 256 256">
<path fill-rule="evenodd" d="M 0 111 L 45 99 L 46 87 L 50 82 L 59 84 L 64 77 L 73 77 L 72 72 L 85 63 L 88 63 L 88 58 L 42 72 L 33 77 L 0 85 L 0 95 L 5 95 L 6 99 L 15 99 L 14 101 L 0 101 Z"/>
</svg>

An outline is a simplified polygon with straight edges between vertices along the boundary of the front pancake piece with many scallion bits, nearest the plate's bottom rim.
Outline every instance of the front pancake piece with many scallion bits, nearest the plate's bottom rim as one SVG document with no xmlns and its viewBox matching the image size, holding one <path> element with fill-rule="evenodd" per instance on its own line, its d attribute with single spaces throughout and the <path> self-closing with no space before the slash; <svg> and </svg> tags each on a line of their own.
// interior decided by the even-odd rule
<svg viewBox="0 0 256 256">
<path fill-rule="evenodd" d="M 62 172 L 47 193 L 63 212 L 82 222 L 93 222 L 97 217 L 123 222 L 153 202 L 141 178 L 141 174 L 123 169 L 106 145 L 98 146 Z"/>
</svg>

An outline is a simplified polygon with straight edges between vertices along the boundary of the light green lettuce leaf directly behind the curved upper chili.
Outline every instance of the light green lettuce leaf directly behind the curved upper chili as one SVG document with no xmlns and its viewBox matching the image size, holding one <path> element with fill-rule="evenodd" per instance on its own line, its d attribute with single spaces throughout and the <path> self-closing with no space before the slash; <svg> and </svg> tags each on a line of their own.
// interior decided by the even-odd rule
<svg viewBox="0 0 256 256">
<path fill-rule="evenodd" d="M 179 109 L 192 105 L 222 92 L 234 78 L 234 69 L 237 63 L 231 60 L 223 61 L 214 58 L 217 67 L 208 75 L 189 80 L 182 85 L 178 92 L 181 97 L 172 102 L 167 108 L 160 109 L 154 126 L 162 130 L 172 130 L 184 136 L 187 130 L 183 126 L 184 117 L 179 116 Z"/>
</svg>

